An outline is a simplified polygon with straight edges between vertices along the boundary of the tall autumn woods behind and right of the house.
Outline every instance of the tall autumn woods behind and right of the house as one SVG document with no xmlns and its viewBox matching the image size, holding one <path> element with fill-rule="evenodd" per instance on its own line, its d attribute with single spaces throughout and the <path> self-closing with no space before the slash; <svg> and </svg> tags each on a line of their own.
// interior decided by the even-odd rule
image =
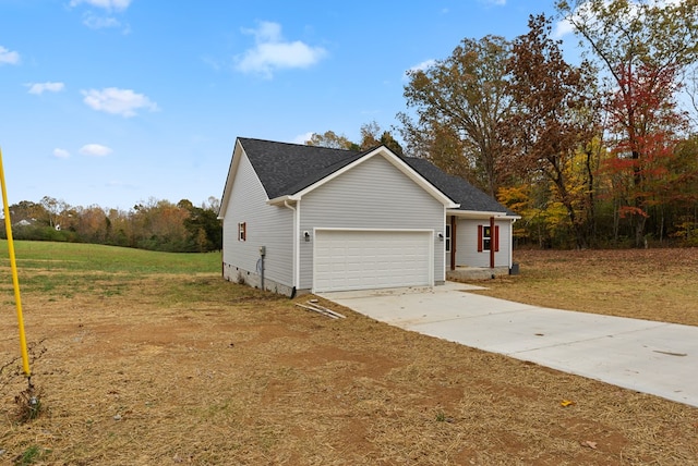
<svg viewBox="0 0 698 466">
<path fill-rule="evenodd" d="M 698 0 L 557 1 L 582 58 L 531 16 L 409 73 L 405 152 L 522 219 L 519 244 L 698 246 Z"/>
</svg>

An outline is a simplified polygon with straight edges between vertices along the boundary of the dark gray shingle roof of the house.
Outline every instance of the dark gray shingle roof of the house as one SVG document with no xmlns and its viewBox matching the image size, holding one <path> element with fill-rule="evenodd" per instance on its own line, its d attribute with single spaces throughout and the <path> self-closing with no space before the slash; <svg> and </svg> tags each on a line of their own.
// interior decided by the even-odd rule
<svg viewBox="0 0 698 466">
<path fill-rule="evenodd" d="M 269 199 L 296 194 L 369 152 L 246 137 L 238 140 Z M 464 179 L 444 173 L 429 160 L 412 157 L 400 159 L 452 200 L 460 204 L 460 210 L 516 214 Z"/>
</svg>

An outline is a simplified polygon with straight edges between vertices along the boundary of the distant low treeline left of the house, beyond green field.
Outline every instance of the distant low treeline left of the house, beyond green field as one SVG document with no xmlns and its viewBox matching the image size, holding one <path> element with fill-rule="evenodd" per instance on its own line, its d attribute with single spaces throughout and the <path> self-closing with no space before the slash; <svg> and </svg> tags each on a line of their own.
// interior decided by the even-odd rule
<svg viewBox="0 0 698 466">
<path fill-rule="evenodd" d="M 45 196 L 39 203 L 11 205 L 15 240 L 94 243 L 172 253 L 205 253 L 222 248 L 219 201 L 201 207 L 183 199 L 177 204 L 149 199 L 132 209 L 73 207 Z M 7 238 L 4 222 L 0 236 Z"/>
</svg>

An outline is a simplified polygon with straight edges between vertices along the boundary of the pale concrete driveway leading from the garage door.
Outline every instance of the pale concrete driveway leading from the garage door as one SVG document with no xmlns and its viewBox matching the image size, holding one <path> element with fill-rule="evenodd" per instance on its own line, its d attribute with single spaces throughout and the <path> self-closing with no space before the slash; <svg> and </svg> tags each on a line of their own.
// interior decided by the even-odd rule
<svg viewBox="0 0 698 466">
<path fill-rule="evenodd" d="M 321 295 L 406 330 L 698 406 L 698 327 L 541 308 L 473 289 Z"/>
</svg>

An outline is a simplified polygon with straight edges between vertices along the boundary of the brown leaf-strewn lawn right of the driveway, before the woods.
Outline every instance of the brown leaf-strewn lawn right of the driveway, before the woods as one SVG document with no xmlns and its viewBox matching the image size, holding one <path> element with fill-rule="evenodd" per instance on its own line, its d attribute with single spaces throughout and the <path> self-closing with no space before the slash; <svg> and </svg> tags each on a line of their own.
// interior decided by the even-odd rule
<svg viewBox="0 0 698 466">
<path fill-rule="evenodd" d="M 484 294 L 527 304 L 698 326 L 698 248 L 519 250 L 520 277 Z"/>
</svg>

